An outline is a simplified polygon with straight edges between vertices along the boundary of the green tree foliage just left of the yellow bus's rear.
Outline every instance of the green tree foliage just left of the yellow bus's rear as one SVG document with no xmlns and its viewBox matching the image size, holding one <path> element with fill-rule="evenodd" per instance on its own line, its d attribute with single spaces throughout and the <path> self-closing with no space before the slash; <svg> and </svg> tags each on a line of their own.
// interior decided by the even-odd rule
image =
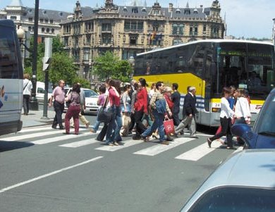
<svg viewBox="0 0 275 212">
<path fill-rule="evenodd" d="M 118 56 L 114 56 L 111 51 L 94 59 L 94 74 L 99 76 L 99 80 L 114 78 L 123 82 L 130 80 L 133 68 L 128 61 L 120 61 Z"/>
</svg>

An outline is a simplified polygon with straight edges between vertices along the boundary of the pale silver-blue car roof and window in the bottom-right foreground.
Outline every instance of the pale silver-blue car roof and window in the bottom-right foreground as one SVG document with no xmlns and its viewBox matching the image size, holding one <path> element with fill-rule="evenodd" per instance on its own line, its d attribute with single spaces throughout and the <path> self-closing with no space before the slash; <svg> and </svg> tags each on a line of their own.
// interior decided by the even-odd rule
<svg viewBox="0 0 275 212">
<path fill-rule="evenodd" d="M 274 149 L 248 149 L 233 154 L 181 211 L 275 211 L 274 161 Z"/>
</svg>

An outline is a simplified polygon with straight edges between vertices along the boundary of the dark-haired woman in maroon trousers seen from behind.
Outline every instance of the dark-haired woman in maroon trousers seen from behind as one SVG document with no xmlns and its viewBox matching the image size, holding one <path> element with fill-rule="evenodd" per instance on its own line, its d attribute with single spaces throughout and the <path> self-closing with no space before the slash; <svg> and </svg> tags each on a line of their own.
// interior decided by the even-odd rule
<svg viewBox="0 0 275 212">
<path fill-rule="evenodd" d="M 72 92 L 68 94 L 65 101 L 71 101 L 68 111 L 65 115 L 66 134 L 70 134 L 70 119 L 73 117 L 75 126 L 75 135 L 79 132 L 79 113 L 80 113 L 80 84 L 73 85 Z"/>
</svg>

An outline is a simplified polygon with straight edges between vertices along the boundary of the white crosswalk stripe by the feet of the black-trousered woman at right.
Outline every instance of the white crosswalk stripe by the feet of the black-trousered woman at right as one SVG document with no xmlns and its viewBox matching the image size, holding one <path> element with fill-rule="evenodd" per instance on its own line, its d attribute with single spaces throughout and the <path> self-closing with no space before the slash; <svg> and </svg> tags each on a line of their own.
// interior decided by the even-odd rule
<svg viewBox="0 0 275 212">
<path fill-rule="evenodd" d="M 210 152 L 214 151 L 215 149 L 219 148 L 221 146 L 220 142 L 212 142 L 211 147 L 208 147 L 207 142 L 204 144 L 195 147 L 194 149 L 191 149 L 190 151 L 186 151 L 185 153 L 176 156 L 176 159 L 180 160 L 187 160 L 187 161 L 198 161 L 203 156 L 206 156 Z"/>
</svg>

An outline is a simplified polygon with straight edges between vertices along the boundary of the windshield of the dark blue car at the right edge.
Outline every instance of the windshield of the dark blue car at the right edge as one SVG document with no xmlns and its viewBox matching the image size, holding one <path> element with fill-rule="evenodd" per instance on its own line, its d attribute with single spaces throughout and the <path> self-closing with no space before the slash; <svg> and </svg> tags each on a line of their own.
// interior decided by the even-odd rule
<svg viewBox="0 0 275 212">
<path fill-rule="evenodd" d="M 257 120 L 257 133 L 275 136 L 275 95 L 269 96 Z"/>
</svg>

